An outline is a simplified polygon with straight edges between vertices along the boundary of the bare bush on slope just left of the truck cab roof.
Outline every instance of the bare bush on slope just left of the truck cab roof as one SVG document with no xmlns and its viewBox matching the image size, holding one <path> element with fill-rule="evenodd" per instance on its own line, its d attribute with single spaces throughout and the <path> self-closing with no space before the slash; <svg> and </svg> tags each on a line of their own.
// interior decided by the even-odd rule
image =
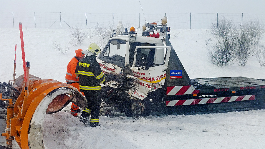
<svg viewBox="0 0 265 149">
<path fill-rule="evenodd" d="M 103 24 L 97 22 L 95 25 L 95 35 L 100 38 L 99 43 L 97 43 L 101 48 L 107 44 L 108 40 L 110 39 L 110 34 L 112 33 L 113 25 L 109 23 L 109 27 L 105 27 Z"/>
</svg>

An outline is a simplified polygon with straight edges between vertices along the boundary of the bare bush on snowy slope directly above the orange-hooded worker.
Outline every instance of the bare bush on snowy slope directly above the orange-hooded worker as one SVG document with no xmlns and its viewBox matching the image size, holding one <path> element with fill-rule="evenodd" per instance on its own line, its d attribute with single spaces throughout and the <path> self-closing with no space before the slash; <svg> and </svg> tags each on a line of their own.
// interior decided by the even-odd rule
<svg viewBox="0 0 265 149">
<path fill-rule="evenodd" d="M 77 44 L 81 44 L 88 36 L 87 32 L 82 31 L 82 27 L 77 24 L 77 26 L 69 29 L 69 35 L 71 37 L 72 46 L 76 46 Z"/>
</svg>

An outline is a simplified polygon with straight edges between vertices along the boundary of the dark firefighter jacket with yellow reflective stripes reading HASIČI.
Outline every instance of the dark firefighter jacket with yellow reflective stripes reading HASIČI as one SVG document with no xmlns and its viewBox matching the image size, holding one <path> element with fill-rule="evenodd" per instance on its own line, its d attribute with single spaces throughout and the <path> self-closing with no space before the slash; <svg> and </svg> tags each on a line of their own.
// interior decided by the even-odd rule
<svg viewBox="0 0 265 149">
<path fill-rule="evenodd" d="M 75 74 L 79 77 L 80 91 L 100 90 L 100 83 L 105 82 L 105 77 L 96 61 L 96 56 L 91 55 L 80 59 L 77 63 Z"/>
</svg>

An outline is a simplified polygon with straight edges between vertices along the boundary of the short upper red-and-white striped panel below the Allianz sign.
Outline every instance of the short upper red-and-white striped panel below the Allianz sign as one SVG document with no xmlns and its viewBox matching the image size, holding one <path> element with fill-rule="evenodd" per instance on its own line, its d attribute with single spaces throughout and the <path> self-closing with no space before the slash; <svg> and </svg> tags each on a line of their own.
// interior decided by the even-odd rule
<svg viewBox="0 0 265 149">
<path fill-rule="evenodd" d="M 199 90 L 195 90 L 193 85 L 167 87 L 167 95 L 186 95 L 186 94 L 198 94 L 198 93 Z"/>
</svg>

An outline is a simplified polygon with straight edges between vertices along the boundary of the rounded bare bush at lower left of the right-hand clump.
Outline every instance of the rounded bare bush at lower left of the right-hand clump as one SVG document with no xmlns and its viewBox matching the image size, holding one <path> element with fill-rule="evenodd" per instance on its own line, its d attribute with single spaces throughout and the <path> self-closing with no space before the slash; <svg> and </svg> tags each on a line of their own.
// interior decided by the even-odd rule
<svg viewBox="0 0 265 149">
<path fill-rule="evenodd" d="M 233 64 L 235 45 L 232 43 L 230 36 L 217 39 L 217 42 L 211 47 L 212 50 L 208 49 L 208 56 L 213 64 L 220 67 L 223 64 Z"/>
</svg>

